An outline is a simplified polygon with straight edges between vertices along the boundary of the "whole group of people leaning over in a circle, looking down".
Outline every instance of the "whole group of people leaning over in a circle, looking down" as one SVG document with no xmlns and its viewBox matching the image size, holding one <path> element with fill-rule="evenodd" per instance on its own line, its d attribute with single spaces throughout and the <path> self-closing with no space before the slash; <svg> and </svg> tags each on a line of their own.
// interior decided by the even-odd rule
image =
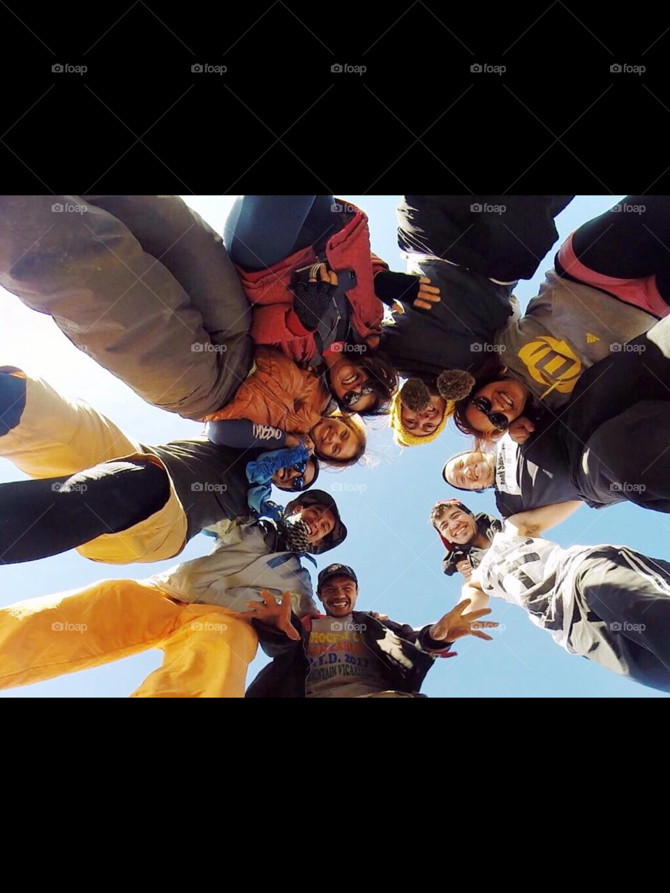
<svg viewBox="0 0 670 893">
<path fill-rule="evenodd" d="M 201 531 L 214 549 L 4 607 L 0 686 L 159 647 L 135 697 L 240 697 L 260 643 L 273 660 L 250 697 L 417 697 L 459 638 L 491 638 L 495 596 L 570 653 L 670 690 L 670 563 L 541 536 L 584 502 L 670 511 L 665 196 L 575 230 L 523 315 L 515 286 L 573 196 L 404 196 L 406 273 L 333 196 L 239 196 L 222 236 L 176 196 L 60 198 L 85 213 L 0 198 L 0 285 L 149 404 L 201 424 L 145 445 L 0 366 L 0 455 L 31 479 L 0 485 L 0 563 L 72 548 L 155 562 Z M 500 515 L 463 494 L 433 507 L 464 587 L 421 630 L 356 611 L 344 563 L 319 574 L 321 613 L 306 567 L 347 537 L 320 469 L 358 462 L 380 416 L 407 448 L 451 420 L 472 447 L 444 480 L 493 488 Z M 282 507 L 272 487 L 295 496 Z"/>
</svg>

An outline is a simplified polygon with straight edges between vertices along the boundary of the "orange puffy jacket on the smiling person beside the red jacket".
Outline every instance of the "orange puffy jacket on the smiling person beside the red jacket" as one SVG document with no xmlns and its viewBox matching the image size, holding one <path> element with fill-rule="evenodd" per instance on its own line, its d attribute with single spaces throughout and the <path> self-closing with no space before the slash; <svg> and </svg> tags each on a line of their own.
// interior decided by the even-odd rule
<svg viewBox="0 0 670 893">
<path fill-rule="evenodd" d="M 249 419 L 289 434 L 309 433 L 331 402 L 319 376 L 270 347 L 256 349 L 255 365 L 230 403 L 203 421 Z"/>
</svg>

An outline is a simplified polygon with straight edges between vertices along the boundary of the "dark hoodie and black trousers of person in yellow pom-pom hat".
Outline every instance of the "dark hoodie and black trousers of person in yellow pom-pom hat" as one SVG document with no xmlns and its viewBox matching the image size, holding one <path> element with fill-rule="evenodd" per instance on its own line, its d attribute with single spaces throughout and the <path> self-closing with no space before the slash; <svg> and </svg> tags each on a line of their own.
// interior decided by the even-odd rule
<svg viewBox="0 0 670 893">
<path fill-rule="evenodd" d="M 476 371 L 490 356 L 485 346 L 510 322 L 515 281 L 532 279 L 558 238 L 554 218 L 572 197 L 404 196 L 398 244 L 417 255 L 413 271 L 440 288 L 440 302 L 431 310 L 407 303 L 405 313 L 394 314 L 395 324 L 382 327 L 380 347 L 401 374 Z M 473 212 L 473 204 L 506 211 Z"/>
</svg>

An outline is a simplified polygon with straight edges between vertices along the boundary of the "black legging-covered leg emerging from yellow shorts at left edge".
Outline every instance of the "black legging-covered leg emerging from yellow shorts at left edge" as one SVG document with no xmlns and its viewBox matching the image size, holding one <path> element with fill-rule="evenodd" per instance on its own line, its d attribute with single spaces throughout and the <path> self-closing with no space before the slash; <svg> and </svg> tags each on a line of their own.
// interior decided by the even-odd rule
<svg viewBox="0 0 670 893">
<path fill-rule="evenodd" d="M 103 533 L 127 530 L 169 497 L 163 468 L 142 459 L 0 484 L 0 564 L 58 555 Z"/>
</svg>

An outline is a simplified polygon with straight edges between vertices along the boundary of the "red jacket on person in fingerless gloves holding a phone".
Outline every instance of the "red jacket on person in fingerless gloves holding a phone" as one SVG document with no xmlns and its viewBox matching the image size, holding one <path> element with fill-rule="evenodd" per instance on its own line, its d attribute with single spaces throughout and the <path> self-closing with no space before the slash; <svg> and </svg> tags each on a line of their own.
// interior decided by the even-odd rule
<svg viewBox="0 0 670 893">
<path fill-rule="evenodd" d="M 388 270 L 388 264 L 373 255 L 367 215 L 356 208 L 352 220 L 335 233 L 326 245 L 331 270 L 351 269 L 356 272 L 356 288 L 347 292 L 352 308 L 351 322 L 365 338 L 379 333 L 384 308 L 374 294 L 374 274 Z M 255 305 L 251 337 L 256 344 L 272 344 L 292 360 L 310 360 L 316 353 L 314 334 L 303 326 L 293 309 L 294 295 L 290 288 L 292 273 L 316 263 L 313 247 L 290 255 L 268 270 L 247 273 L 237 271 L 249 301 Z"/>
</svg>

